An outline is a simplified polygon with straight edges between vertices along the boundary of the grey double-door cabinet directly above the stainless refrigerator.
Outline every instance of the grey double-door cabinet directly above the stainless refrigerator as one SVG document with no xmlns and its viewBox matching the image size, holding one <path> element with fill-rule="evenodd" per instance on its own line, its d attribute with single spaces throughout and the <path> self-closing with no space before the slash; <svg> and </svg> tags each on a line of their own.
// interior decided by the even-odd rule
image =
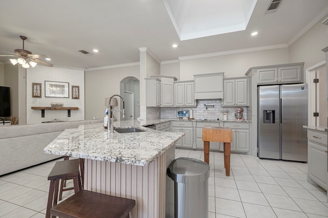
<svg viewBox="0 0 328 218">
<path fill-rule="evenodd" d="M 257 84 L 298 83 L 303 82 L 304 63 L 282 64 L 258 67 Z"/>
</svg>

